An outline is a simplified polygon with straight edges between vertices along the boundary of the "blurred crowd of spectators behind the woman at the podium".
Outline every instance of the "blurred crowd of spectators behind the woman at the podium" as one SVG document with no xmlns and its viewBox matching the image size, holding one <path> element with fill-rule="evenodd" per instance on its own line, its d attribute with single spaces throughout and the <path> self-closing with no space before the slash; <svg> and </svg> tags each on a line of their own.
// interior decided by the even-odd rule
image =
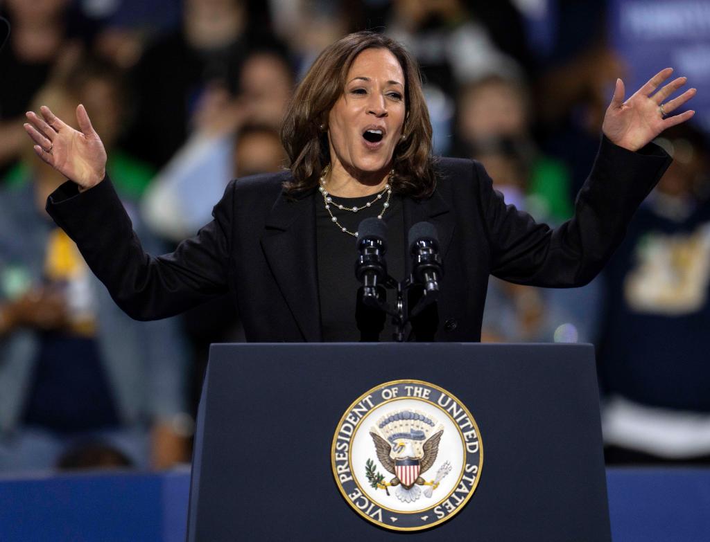
<svg viewBox="0 0 710 542">
<path fill-rule="evenodd" d="M 25 111 L 75 125 L 84 104 L 160 253 L 230 179 L 288 166 L 295 84 L 351 31 L 417 57 L 436 154 L 479 160 L 552 225 L 573 213 L 627 69 L 592 0 L 5 0 L 0 15 L 0 473 L 189 461 L 209 344 L 244 339 L 226 299 L 148 324 L 115 307 L 44 213 L 64 179 L 34 156 Z M 596 344 L 608 461 L 707 463 L 709 147 L 692 125 L 658 143 L 674 162 L 603 274 L 569 290 L 491 277 L 483 337 Z"/>
</svg>

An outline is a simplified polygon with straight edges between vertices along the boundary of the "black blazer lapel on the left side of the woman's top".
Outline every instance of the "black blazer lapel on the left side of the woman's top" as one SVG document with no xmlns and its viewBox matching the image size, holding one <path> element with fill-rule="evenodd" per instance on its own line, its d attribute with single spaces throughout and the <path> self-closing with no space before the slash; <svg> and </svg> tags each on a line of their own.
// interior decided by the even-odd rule
<svg viewBox="0 0 710 542">
<path fill-rule="evenodd" d="M 321 341 L 317 283 L 315 190 L 279 196 L 266 219 L 261 247 L 306 341 Z"/>
</svg>

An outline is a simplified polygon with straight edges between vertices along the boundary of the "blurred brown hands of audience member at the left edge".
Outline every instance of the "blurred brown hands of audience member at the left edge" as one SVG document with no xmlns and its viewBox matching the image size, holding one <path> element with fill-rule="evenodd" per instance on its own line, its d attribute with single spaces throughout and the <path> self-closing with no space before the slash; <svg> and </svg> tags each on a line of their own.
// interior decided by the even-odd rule
<svg viewBox="0 0 710 542">
<path fill-rule="evenodd" d="M 35 288 L 25 293 L 2 310 L 4 332 L 19 327 L 62 329 L 69 323 L 64 295 L 54 288 Z"/>
</svg>

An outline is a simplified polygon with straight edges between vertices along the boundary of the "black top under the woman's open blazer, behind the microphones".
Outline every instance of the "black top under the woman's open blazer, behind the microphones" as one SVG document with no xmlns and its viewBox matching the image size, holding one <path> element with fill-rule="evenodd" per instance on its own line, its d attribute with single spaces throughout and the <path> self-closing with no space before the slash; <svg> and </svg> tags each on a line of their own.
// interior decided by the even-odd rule
<svg viewBox="0 0 710 542">
<path fill-rule="evenodd" d="M 376 217 L 383 210 L 386 196 L 377 200 L 370 207 L 366 203 L 376 199 L 376 196 L 364 198 L 337 198 L 332 196 L 334 204 L 349 208 L 356 206 L 361 209 L 357 213 L 339 210 L 331 206 L 333 215 L 349 232 L 356 232 L 360 222 L 366 218 Z M 320 193 L 316 195 L 316 238 L 318 262 L 318 293 L 320 296 L 321 327 L 324 341 L 359 341 L 361 332 L 356 325 L 356 300 L 360 283 L 355 276 L 357 260 L 356 238 L 343 232 L 333 221 L 325 208 Z M 399 196 L 390 198 L 390 206 L 383 214 L 382 220 L 387 225 L 387 252 L 385 255 L 388 273 L 397 281 L 404 279 L 405 273 L 405 243 L 404 217 L 402 199 Z M 387 301 L 395 305 L 394 290 L 387 290 Z M 373 324 L 376 315 L 364 317 L 365 324 Z M 391 341 L 394 326 L 391 317 L 384 322 L 381 341 Z"/>
</svg>

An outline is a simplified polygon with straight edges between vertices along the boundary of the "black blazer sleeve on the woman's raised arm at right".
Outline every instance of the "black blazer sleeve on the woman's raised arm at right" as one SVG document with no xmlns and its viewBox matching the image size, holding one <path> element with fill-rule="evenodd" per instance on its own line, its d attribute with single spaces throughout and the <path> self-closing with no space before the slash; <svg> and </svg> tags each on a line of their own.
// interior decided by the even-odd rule
<svg viewBox="0 0 710 542">
<path fill-rule="evenodd" d="M 476 164 L 491 274 L 548 288 L 589 283 L 621 243 L 633 213 L 670 162 L 657 145 L 631 152 L 603 137 L 574 203 L 574 216 L 554 230 L 506 205 L 483 166 Z"/>
</svg>

